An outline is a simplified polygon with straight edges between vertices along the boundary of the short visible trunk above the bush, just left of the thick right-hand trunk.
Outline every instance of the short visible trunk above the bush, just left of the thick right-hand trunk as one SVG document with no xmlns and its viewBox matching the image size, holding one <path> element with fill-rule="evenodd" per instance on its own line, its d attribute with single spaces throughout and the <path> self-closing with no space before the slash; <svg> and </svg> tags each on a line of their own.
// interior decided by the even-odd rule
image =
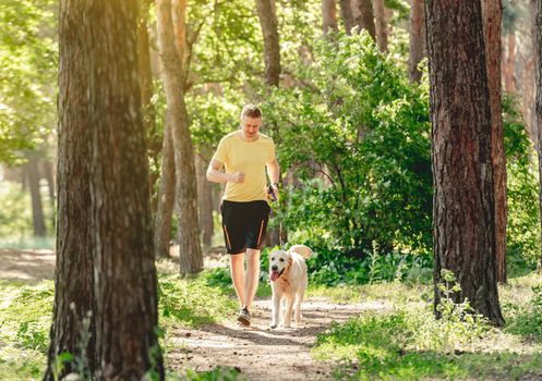
<svg viewBox="0 0 542 381">
<path fill-rule="evenodd" d="M 409 82 L 420 83 L 422 72 L 418 65 L 425 56 L 425 10 L 423 0 L 412 0 L 410 5 Z"/>
</svg>

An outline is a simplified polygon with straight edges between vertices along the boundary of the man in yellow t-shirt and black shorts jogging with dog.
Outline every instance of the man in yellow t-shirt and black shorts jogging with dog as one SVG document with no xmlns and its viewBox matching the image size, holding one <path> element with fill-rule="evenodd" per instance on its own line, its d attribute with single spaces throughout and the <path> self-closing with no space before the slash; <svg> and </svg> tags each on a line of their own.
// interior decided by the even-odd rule
<svg viewBox="0 0 542 381">
<path fill-rule="evenodd" d="M 262 250 L 269 205 L 267 190 L 278 199 L 279 167 L 273 139 L 260 133 L 262 110 L 246 105 L 241 128 L 226 135 L 210 160 L 207 180 L 226 183 L 220 211 L 233 287 L 240 303 L 238 321 L 250 325 L 250 309 L 260 280 Z M 222 167 L 225 171 L 222 171 Z M 272 185 L 267 188 L 267 174 Z M 246 272 L 244 257 L 246 253 Z"/>
</svg>

